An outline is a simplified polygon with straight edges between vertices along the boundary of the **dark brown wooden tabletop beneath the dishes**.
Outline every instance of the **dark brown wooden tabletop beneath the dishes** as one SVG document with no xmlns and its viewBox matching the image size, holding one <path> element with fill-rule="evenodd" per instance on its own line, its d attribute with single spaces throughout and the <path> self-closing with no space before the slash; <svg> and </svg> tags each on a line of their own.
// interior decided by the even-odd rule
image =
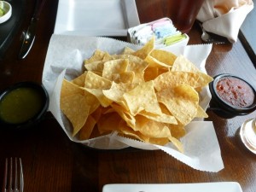
<svg viewBox="0 0 256 192">
<path fill-rule="evenodd" d="M 164 2 L 164 1 L 163 1 Z M 20 30 L 0 61 L 0 89 L 20 81 L 42 81 L 49 39 L 54 32 L 58 2 L 47 0 L 38 20 L 37 36 L 30 53 L 18 60 L 20 34 L 32 15 L 34 1 L 26 1 Z M 167 16 L 160 0 L 137 0 L 141 23 Z M 188 33 L 189 44 L 202 44 L 200 27 Z M 124 38 L 122 38 L 124 39 Z M 207 58 L 207 73 L 232 73 L 256 88 L 256 70 L 246 49 L 235 44 L 213 44 Z M 34 129 L 11 132 L 0 129 L 0 180 L 6 157 L 20 157 L 23 163 L 25 190 L 37 192 L 102 191 L 108 183 L 208 183 L 238 182 L 243 192 L 256 189 L 256 155 L 241 143 L 241 124 L 256 117 L 256 112 L 233 119 L 221 119 L 209 112 L 213 122 L 224 169 L 219 172 L 196 171 L 163 151 L 138 149 L 96 150 L 69 140 L 61 126 L 48 113 Z M 1 185 L 1 184 L 0 184 Z"/>
</svg>

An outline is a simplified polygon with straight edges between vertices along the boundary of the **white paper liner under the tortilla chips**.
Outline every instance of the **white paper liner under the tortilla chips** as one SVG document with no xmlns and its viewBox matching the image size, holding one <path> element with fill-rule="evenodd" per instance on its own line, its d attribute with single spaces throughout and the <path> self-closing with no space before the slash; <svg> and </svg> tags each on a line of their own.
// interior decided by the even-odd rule
<svg viewBox="0 0 256 192">
<path fill-rule="evenodd" d="M 43 72 L 43 84 L 49 92 L 49 111 L 61 125 L 67 137 L 73 142 L 82 143 L 90 148 L 120 149 L 120 148 L 143 148 L 147 150 L 161 149 L 172 155 L 177 160 L 201 171 L 218 172 L 224 168 L 220 154 L 218 139 L 216 137 L 212 122 L 195 119 L 186 126 L 188 134 L 181 139 L 184 154 L 177 151 L 172 143 L 166 146 L 158 146 L 119 137 L 113 132 L 107 136 L 97 137 L 86 141 L 79 141 L 72 137 L 72 125 L 61 113 L 60 93 L 63 78 L 73 79 L 83 73 L 83 61 L 90 58 L 96 49 L 108 51 L 110 55 L 119 54 L 125 47 L 139 49 L 135 44 L 125 43 L 113 38 L 77 37 L 67 35 L 53 35 L 50 39 L 49 49 L 46 56 Z M 185 55 L 193 61 L 203 72 L 205 61 L 211 52 L 212 44 L 186 46 L 179 54 Z M 178 53 L 176 53 L 178 55 Z M 208 88 L 201 93 L 201 107 L 207 108 L 211 100 Z"/>
</svg>

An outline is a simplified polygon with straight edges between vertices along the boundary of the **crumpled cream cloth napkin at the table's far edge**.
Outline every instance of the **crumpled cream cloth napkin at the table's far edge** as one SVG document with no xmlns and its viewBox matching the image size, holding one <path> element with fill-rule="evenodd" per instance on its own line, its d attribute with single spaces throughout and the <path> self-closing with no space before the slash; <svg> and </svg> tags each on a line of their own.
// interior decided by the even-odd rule
<svg viewBox="0 0 256 192">
<path fill-rule="evenodd" d="M 235 43 L 242 22 L 252 9 L 253 0 L 205 0 L 196 19 L 207 32 Z"/>
</svg>

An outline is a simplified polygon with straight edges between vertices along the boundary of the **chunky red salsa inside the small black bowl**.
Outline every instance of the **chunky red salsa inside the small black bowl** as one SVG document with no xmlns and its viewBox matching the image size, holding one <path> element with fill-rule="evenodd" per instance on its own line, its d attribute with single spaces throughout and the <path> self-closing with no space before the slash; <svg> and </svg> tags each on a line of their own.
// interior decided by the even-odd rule
<svg viewBox="0 0 256 192">
<path fill-rule="evenodd" d="M 218 96 L 235 108 L 247 108 L 254 102 L 254 92 L 250 85 L 235 77 L 224 77 L 216 85 Z"/>
</svg>

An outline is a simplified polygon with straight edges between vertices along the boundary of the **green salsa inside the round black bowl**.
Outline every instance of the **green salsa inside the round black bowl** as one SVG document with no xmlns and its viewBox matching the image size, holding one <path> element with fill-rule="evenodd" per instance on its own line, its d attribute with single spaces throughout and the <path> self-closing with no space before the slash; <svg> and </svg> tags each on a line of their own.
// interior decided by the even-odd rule
<svg viewBox="0 0 256 192">
<path fill-rule="evenodd" d="M 0 102 L 0 118 L 11 124 L 32 119 L 44 106 L 40 92 L 30 87 L 10 91 Z"/>
</svg>

